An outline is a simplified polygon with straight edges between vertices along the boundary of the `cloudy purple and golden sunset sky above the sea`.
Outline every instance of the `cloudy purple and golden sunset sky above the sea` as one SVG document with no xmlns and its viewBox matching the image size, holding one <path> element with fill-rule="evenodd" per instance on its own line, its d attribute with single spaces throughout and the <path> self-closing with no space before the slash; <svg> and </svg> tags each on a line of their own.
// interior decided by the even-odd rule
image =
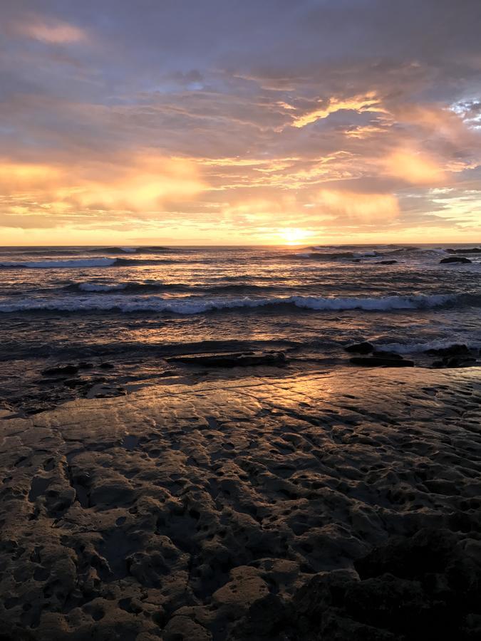
<svg viewBox="0 0 481 641">
<path fill-rule="evenodd" d="M 0 11 L 0 244 L 481 241 L 479 0 Z"/>
</svg>

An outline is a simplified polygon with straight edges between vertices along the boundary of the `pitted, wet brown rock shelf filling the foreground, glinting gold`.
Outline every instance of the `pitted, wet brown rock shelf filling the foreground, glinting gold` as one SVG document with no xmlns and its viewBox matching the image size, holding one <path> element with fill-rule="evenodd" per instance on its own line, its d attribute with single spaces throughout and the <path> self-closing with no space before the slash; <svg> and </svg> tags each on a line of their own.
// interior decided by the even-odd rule
<svg viewBox="0 0 481 641">
<path fill-rule="evenodd" d="M 480 400 L 353 368 L 2 410 L 0 637 L 475 639 Z"/>
</svg>

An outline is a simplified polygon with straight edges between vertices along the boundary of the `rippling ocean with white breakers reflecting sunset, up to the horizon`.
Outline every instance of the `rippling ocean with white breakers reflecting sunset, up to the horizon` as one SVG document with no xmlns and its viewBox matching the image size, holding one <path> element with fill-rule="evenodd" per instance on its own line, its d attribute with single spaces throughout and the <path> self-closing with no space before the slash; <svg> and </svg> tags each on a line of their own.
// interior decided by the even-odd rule
<svg viewBox="0 0 481 641">
<path fill-rule="evenodd" d="M 1 248 L 0 397 L 50 407 L 63 395 L 41 371 L 77 361 L 132 384 L 179 354 L 349 367 L 346 345 L 368 340 L 429 365 L 426 350 L 481 347 L 480 276 L 472 245 Z"/>
</svg>

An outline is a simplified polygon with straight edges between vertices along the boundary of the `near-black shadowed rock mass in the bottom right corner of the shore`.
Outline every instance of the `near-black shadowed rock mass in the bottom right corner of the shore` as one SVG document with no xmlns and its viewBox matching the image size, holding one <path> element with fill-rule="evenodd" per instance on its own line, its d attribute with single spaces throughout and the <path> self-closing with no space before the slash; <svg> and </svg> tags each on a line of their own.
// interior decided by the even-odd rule
<svg viewBox="0 0 481 641">
<path fill-rule="evenodd" d="M 481 561 L 477 538 L 476 530 L 468 535 L 444 528 L 425 528 L 410 537 L 394 536 L 354 563 L 358 578 L 348 570 L 320 573 L 296 591 L 291 604 L 259 601 L 259 612 L 249 612 L 244 630 L 254 631 L 265 611 L 264 625 L 255 630 L 261 634 L 234 638 L 479 638 Z M 285 622 L 283 637 L 278 635 L 278 622 Z"/>
</svg>

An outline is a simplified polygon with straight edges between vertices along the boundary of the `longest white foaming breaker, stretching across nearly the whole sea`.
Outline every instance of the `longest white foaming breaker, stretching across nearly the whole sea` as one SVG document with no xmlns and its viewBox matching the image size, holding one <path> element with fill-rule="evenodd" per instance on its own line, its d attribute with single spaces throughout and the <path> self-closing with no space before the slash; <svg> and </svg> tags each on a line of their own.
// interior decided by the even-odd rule
<svg viewBox="0 0 481 641">
<path fill-rule="evenodd" d="M 197 314 L 236 308 L 291 306 L 314 311 L 396 311 L 435 308 L 449 304 L 481 304 L 481 295 L 437 294 L 433 296 L 381 296 L 378 298 L 322 298 L 287 296 L 264 298 L 162 298 L 160 296 L 65 296 L 58 298 L 23 298 L 0 301 L 0 312 L 18 311 L 121 311 Z"/>
</svg>

